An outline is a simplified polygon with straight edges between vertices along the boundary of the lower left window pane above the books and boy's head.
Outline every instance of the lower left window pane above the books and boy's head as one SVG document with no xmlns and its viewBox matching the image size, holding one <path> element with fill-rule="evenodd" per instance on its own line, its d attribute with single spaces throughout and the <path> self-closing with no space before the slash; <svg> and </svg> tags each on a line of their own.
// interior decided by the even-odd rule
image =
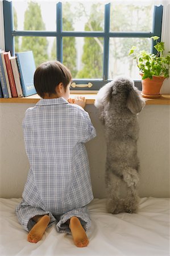
<svg viewBox="0 0 170 256">
<path fill-rule="evenodd" d="M 56 38 L 15 36 L 15 52 L 32 51 L 36 67 L 47 60 L 56 60 Z"/>
</svg>

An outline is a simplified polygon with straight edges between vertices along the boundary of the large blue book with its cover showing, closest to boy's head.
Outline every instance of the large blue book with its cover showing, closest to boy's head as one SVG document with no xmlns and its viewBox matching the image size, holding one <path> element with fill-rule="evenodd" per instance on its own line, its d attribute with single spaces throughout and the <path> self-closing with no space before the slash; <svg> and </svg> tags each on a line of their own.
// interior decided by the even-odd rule
<svg viewBox="0 0 170 256">
<path fill-rule="evenodd" d="M 35 61 L 32 51 L 15 53 L 23 96 L 36 94 L 34 87 Z"/>
</svg>

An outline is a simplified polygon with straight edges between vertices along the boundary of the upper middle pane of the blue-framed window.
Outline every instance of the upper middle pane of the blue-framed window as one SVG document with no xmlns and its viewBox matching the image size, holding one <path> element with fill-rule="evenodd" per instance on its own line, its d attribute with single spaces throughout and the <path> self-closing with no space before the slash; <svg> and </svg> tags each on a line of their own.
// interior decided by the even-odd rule
<svg viewBox="0 0 170 256">
<path fill-rule="evenodd" d="M 63 2 L 63 30 L 103 31 L 104 13 L 102 2 Z"/>
</svg>

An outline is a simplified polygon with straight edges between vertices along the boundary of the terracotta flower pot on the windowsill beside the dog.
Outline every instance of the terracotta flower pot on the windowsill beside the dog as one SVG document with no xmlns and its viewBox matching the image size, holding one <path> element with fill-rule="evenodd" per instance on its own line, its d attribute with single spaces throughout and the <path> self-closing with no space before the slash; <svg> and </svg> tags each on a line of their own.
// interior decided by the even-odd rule
<svg viewBox="0 0 170 256">
<path fill-rule="evenodd" d="M 143 76 L 143 73 L 140 73 Z M 159 98 L 161 96 L 160 88 L 163 84 L 165 77 L 153 76 L 152 79 L 142 80 L 142 97 L 144 98 Z"/>
</svg>

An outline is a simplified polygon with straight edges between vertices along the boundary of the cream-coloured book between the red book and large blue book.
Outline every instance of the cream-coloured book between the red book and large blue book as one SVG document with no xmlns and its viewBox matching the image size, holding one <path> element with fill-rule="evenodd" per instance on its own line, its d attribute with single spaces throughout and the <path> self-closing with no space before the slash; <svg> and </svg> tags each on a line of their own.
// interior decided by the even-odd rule
<svg viewBox="0 0 170 256">
<path fill-rule="evenodd" d="M 10 57 L 11 67 L 13 69 L 13 75 L 14 75 L 14 81 L 16 86 L 16 92 L 18 94 L 18 97 L 23 97 L 22 92 L 22 86 L 20 84 L 20 77 L 19 77 L 19 71 L 18 71 L 18 65 L 16 63 L 16 57 Z"/>
</svg>

